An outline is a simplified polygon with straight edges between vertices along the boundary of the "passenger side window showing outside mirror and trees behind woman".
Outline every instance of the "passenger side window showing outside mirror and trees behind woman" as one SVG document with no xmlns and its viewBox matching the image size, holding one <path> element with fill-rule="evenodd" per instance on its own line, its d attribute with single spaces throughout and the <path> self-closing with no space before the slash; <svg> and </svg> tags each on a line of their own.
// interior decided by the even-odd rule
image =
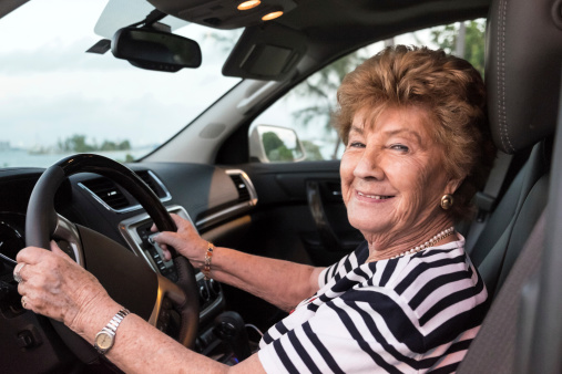
<svg viewBox="0 0 562 374">
<path fill-rule="evenodd" d="M 486 20 L 478 19 L 419 30 L 376 42 L 333 62 L 256 117 L 248 134 L 253 159 L 339 159 L 345 146 L 333 128 L 331 115 L 336 111 L 337 89 L 348 72 L 387 45 L 406 44 L 443 49 L 467 59 L 483 76 L 484 29 Z"/>
</svg>

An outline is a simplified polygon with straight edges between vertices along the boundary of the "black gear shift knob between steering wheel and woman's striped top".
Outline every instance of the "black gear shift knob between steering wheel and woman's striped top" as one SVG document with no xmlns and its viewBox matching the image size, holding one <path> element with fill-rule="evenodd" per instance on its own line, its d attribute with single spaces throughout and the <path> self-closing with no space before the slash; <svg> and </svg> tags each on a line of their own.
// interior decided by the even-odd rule
<svg viewBox="0 0 562 374">
<path fill-rule="evenodd" d="M 221 313 L 215 319 L 214 333 L 228 345 L 238 362 L 249 357 L 248 334 L 238 313 L 232 311 Z"/>
</svg>

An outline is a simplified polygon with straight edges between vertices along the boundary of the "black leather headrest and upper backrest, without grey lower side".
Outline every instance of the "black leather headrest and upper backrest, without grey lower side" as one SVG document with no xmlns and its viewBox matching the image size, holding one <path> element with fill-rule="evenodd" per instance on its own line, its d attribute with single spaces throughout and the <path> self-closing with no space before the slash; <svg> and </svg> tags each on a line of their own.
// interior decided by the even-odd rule
<svg viewBox="0 0 562 374">
<path fill-rule="evenodd" d="M 508 154 L 533 147 L 468 249 L 492 297 L 546 205 L 562 63 L 560 3 L 494 0 L 489 12 L 486 82 L 492 137 Z"/>
</svg>

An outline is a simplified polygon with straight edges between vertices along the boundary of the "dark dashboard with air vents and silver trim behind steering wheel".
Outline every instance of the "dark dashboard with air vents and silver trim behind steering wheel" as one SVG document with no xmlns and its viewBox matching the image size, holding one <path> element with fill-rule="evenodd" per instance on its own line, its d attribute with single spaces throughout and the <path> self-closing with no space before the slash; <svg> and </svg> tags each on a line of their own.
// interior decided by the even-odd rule
<svg viewBox="0 0 562 374">
<path fill-rule="evenodd" d="M 146 163 L 130 167 L 170 212 L 191 220 L 207 240 L 227 241 L 233 232 L 249 225 L 248 214 L 257 204 L 257 195 L 243 170 L 198 164 Z M 58 344 L 48 322 L 21 309 L 12 278 L 16 256 L 25 246 L 29 197 L 42 172 L 37 168 L 0 169 L 0 340 L 13 343 L 9 354 L 18 365 L 28 365 L 21 367 L 22 371 L 38 370 L 33 366 L 33 355 L 41 356 L 40 368 L 45 370 L 43 359 Z M 113 180 L 95 174 L 74 175 L 59 188 L 54 207 L 69 222 L 104 235 L 143 259 L 154 272 L 176 280 L 172 262 L 163 260 L 161 249 L 151 240 L 151 217 Z M 79 260 L 72 242 L 65 238 L 55 239 L 67 253 Z M 205 280 L 198 270 L 195 277 L 200 294 L 200 333 L 195 349 L 210 354 L 218 344 L 212 328 L 214 318 L 224 311 L 225 295 L 218 282 Z M 165 323 L 159 320 L 156 326 L 174 336 L 174 315 L 168 314 L 171 318 Z M 7 339 L 8 335 L 11 337 Z M 61 360 L 52 365 L 55 366 L 51 368 L 60 368 L 57 365 L 61 365 Z"/>
</svg>

